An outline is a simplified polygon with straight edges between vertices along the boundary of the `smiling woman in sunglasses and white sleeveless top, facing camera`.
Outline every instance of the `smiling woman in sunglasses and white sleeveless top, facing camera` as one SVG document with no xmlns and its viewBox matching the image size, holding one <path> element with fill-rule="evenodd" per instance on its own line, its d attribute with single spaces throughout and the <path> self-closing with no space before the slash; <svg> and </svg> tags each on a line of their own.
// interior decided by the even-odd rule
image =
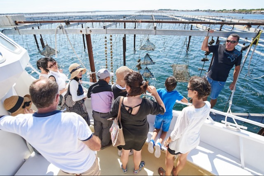
<svg viewBox="0 0 264 176">
<path fill-rule="evenodd" d="M 44 57 L 44 60 L 45 60 L 44 70 L 46 72 L 49 72 L 48 74 L 49 79 L 56 81 L 57 84 L 59 85 L 59 94 L 60 94 L 59 105 L 61 105 L 62 98 L 66 94 L 66 91 L 67 91 L 67 87 L 66 87 L 67 76 L 62 73 L 61 69 L 59 69 L 59 66 L 56 60 L 54 60 L 51 57 Z"/>
</svg>

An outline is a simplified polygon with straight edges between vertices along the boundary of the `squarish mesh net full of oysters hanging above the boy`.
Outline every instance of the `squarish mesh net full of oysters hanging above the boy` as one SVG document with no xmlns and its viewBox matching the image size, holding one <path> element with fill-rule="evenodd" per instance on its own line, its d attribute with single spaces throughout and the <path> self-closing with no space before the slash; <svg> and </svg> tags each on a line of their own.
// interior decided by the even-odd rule
<svg viewBox="0 0 264 176">
<path fill-rule="evenodd" d="M 188 65 L 172 64 L 173 76 L 178 82 L 189 82 L 190 74 Z"/>
</svg>

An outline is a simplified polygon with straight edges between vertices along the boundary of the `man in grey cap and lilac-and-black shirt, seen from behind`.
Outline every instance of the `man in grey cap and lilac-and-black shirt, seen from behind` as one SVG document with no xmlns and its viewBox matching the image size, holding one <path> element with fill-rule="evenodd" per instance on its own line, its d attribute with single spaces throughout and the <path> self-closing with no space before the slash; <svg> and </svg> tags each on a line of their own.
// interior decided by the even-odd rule
<svg viewBox="0 0 264 176">
<path fill-rule="evenodd" d="M 87 94 L 87 97 L 92 101 L 94 135 L 101 139 L 101 149 L 111 145 L 109 129 L 113 122 L 107 119 L 110 118 L 109 112 L 114 98 L 111 85 L 109 85 L 110 77 L 113 75 L 114 73 L 105 68 L 100 69 L 97 72 L 99 81 L 89 87 Z"/>
</svg>

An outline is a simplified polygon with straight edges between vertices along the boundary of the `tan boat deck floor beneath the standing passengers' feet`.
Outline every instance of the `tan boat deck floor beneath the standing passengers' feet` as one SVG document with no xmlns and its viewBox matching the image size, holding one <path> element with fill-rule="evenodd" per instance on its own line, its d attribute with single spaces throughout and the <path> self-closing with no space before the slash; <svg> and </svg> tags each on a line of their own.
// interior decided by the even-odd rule
<svg viewBox="0 0 264 176">
<path fill-rule="evenodd" d="M 129 156 L 128 172 L 123 174 L 121 170 L 121 161 L 117 155 L 117 148 L 110 146 L 98 152 L 98 158 L 100 160 L 101 175 L 133 175 L 133 155 Z M 110 159 L 111 158 L 111 159 Z M 142 160 L 145 161 L 145 167 L 137 175 L 159 175 L 158 168 L 163 167 L 165 169 L 165 151 L 161 152 L 160 158 L 156 158 L 154 153 L 148 152 L 148 145 L 142 148 Z M 111 164 L 110 164 L 111 163 Z M 177 160 L 174 165 L 176 166 Z M 179 175 L 212 175 L 210 172 L 203 170 L 202 168 L 187 162 L 185 168 Z"/>
</svg>

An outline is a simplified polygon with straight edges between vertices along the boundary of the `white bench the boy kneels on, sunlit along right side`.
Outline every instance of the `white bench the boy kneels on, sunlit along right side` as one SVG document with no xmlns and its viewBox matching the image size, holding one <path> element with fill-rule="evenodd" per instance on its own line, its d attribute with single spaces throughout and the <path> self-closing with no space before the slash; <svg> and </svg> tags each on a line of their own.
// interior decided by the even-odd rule
<svg viewBox="0 0 264 176">
<path fill-rule="evenodd" d="M 148 117 L 149 132 L 146 143 L 148 143 L 151 140 L 153 130 L 155 129 L 155 127 L 153 126 L 154 121 L 152 118 L 155 119 L 155 116 Z M 176 121 L 176 118 L 173 121 Z M 167 132 L 165 139 L 167 139 L 170 136 L 174 124 L 175 122 L 171 123 L 170 129 Z M 159 132 L 157 138 L 160 136 L 160 133 L 161 131 Z M 164 151 L 167 150 L 167 148 L 163 145 L 163 143 L 161 144 L 161 149 Z M 211 145 L 203 143 L 202 141 L 199 143 L 199 145 L 196 148 L 191 150 L 191 152 L 187 156 L 187 160 L 193 163 L 194 165 L 197 165 L 202 169 L 211 172 L 214 175 L 253 175 L 250 171 L 241 168 L 240 160 L 217 148 L 214 148 Z M 223 168 L 227 168 L 227 169 L 223 169 Z M 210 173 L 204 173 L 204 174 L 210 175 Z"/>
</svg>

